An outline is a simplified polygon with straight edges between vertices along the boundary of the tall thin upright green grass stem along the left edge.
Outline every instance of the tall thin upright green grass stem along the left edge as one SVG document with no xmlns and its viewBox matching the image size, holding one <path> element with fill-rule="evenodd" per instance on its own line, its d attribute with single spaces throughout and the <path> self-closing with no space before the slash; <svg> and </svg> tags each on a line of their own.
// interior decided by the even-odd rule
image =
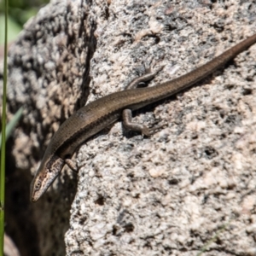
<svg viewBox="0 0 256 256">
<path fill-rule="evenodd" d="M 5 142 L 5 124 L 6 124 L 7 32 L 8 32 L 8 30 L 7 30 L 7 20 L 8 20 L 8 0 L 5 0 L 2 142 Z M 1 168 L 0 168 L 0 256 L 3 256 L 4 196 L 5 196 L 5 143 L 3 143 L 2 148 L 1 148 Z"/>
</svg>

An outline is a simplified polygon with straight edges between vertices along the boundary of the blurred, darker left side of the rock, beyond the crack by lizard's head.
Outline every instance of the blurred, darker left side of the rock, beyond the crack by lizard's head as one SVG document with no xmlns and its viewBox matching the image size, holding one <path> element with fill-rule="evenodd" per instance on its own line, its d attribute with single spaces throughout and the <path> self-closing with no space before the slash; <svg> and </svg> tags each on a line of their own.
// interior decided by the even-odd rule
<svg viewBox="0 0 256 256">
<path fill-rule="evenodd" d="M 65 254 L 76 178 L 64 171 L 58 189 L 38 204 L 29 201 L 29 186 L 50 137 L 88 96 L 96 46 L 88 8 L 80 1 L 52 2 L 26 23 L 9 50 L 9 111 L 23 106 L 24 114 L 14 135 L 15 160 L 8 161 L 6 230 L 22 255 Z"/>
</svg>

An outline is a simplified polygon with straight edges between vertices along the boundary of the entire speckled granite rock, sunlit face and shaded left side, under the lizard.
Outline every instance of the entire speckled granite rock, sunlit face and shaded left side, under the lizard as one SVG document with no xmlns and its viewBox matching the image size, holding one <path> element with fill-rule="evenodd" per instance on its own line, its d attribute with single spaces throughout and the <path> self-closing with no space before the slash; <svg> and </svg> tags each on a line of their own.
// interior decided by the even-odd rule
<svg viewBox="0 0 256 256">
<path fill-rule="evenodd" d="M 11 177 L 22 186 L 9 193 L 22 202 L 34 250 L 63 255 L 67 231 L 67 255 L 196 255 L 218 234 L 205 255 L 256 255 L 256 45 L 198 86 L 134 113 L 166 124 L 154 136 L 118 122 L 84 143 L 74 157 L 78 180 L 64 171 L 28 203 L 29 170 L 89 86 L 88 102 L 123 90 L 153 57 L 166 64 L 154 86 L 256 32 L 247 1 L 92 2 L 52 2 L 10 51 L 9 110 L 24 105 L 25 114 L 12 150 Z"/>
</svg>

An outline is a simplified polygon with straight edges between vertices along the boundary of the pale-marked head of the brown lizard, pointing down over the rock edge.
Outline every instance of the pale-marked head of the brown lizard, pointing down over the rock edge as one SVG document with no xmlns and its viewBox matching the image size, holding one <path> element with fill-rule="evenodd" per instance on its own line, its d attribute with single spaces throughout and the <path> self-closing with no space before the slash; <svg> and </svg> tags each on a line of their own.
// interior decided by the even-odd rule
<svg viewBox="0 0 256 256">
<path fill-rule="evenodd" d="M 64 160 L 56 155 L 52 155 L 48 160 L 42 160 L 30 186 L 30 200 L 32 202 L 38 201 L 51 183 L 55 181 L 64 165 Z"/>
</svg>

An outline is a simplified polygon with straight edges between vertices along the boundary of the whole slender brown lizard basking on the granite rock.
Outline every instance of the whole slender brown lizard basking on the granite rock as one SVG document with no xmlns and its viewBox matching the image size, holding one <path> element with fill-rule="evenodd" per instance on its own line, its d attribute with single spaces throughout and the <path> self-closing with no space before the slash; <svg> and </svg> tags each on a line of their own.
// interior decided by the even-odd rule
<svg viewBox="0 0 256 256">
<path fill-rule="evenodd" d="M 148 68 L 146 73 L 128 84 L 125 90 L 103 96 L 80 108 L 64 121 L 51 138 L 31 183 L 31 201 L 38 201 L 44 195 L 44 192 L 60 174 L 63 166 L 67 164 L 71 169 L 75 169 L 71 158 L 79 145 L 88 138 L 113 124 L 120 117 L 123 119 L 125 128 L 140 131 L 146 136 L 150 135 L 153 130 L 149 130 L 146 125 L 132 122 L 131 112 L 133 110 L 143 108 L 189 88 L 255 43 L 256 34 L 177 79 L 168 80 L 152 87 L 137 88 L 137 84 L 153 79 L 163 67 L 159 67 L 155 71 Z"/>
</svg>

